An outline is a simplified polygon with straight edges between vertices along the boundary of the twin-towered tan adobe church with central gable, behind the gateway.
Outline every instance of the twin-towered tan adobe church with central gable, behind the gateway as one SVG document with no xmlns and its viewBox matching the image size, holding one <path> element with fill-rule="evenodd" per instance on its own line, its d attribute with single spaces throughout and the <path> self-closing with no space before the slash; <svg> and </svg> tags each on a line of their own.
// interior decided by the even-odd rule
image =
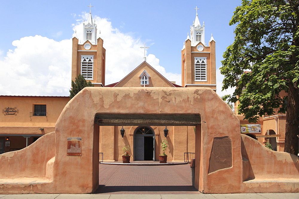
<svg viewBox="0 0 299 199">
<path fill-rule="evenodd" d="M 96 38 L 97 25 L 89 18 L 83 23 L 83 38 L 73 38 L 72 80 L 82 74 L 95 87 L 208 87 L 216 91 L 215 41 L 205 43 L 205 25 L 197 15 L 181 51 L 182 85 L 170 82 L 152 66 L 144 62 L 117 83 L 105 85 L 105 57 L 103 39 Z M 85 41 L 79 43 L 79 41 Z M 146 46 L 142 47 L 146 48 Z M 109 66 L 107 66 L 109 67 Z M 143 99 L 140 99 L 141 103 Z M 150 105 L 149 105 L 149 108 Z M 125 135 L 120 135 L 121 129 Z M 130 146 L 133 160 L 157 160 L 161 154 L 161 141 L 169 143 L 168 161 L 184 160 L 185 152 L 195 152 L 194 126 L 169 126 L 167 138 L 163 126 L 101 126 L 99 151 L 104 160 L 120 161 L 122 148 Z"/>
</svg>

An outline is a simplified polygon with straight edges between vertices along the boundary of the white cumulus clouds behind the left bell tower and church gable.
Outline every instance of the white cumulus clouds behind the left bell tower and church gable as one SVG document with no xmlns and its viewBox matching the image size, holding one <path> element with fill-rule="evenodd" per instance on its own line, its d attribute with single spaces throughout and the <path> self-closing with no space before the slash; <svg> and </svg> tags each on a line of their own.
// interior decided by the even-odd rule
<svg viewBox="0 0 299 199">
<path fill-rule="evenodd" d="M 75 16 L 75 15 L 74 15 Z M 81 40 L 83 18 L 73 24 L 73 36 Z M 118 82 L 142 63 L 143 42 L 129 33 L 112 27 L 106 18 L 93 16 L 98 37 L 104 40 L 106 49 L 106 85 Z M 56 35 L 59 35 L 58 32 Z M 14 50 L 9 50 L 0 60 L 0 95 L 68 96 L 71 86 L 71 39 L 54 41 L 39 35 L 13 41 Z M 170 81 L 181 84 L 181 74 L 165 71 L 159 59 L 149 54 L 147 62 Z"/>
</svg>

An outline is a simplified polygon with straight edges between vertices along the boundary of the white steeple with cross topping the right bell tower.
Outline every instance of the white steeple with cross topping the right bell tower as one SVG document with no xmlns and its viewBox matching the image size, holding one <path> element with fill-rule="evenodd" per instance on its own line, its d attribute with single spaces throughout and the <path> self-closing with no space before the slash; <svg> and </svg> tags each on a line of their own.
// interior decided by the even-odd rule
<svg viewBox="0 0 299 199">
<path fill-rule="evenodd" d="M 200 24 L 197 14 L 199 8 L 196 6 L 194 9 L 196 10 L 196 17 L 190 29 L 191 46 L 196 46 L 200 41 L 203 44 L 205 43 L 205 22 L 203 22 L 203 25 Z"/>
</svg>

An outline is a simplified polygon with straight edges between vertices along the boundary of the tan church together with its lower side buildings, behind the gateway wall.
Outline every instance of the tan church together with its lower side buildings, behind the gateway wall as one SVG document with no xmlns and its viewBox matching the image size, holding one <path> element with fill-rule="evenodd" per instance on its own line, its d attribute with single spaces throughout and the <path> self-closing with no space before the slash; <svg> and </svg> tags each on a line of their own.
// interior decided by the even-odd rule
<svg viewBox="0 0 299 199">
<path fill-rule="evenodd" d="M 205 24 L 196 16 L 190 36 L 181 49 L 182 86 L 167 80 L 146 62 L 142 62 L 122 80 L 105 84 L 106 49 L 103 39 L 97 38 L 97 25 L 91 12 L 82 25 L 83 38 L 74 37 L 72 43 L 72 80 L 82 74 L 95 87 L 168 87 L 168 88 L 211 88 L 216 92 L 215 40 L 210 37 L 205 43 Z M 145 46 L 144 46 L 145 47 Z M 69 97 L 54 96 L 0 96 L 0 153 L 23 149 L 40 136 L 54 131 L 55 123 Z M 150 107 L 149 107 L 150 109 Z M 285 115 L 265 116 L 259 126 L 237 117 L 244 125 L 241 134 L 251 136 L 260 143 L 270 142 L 274 149 L 283 151 Z M 124 137 L 120 129 L 125 130 Z M 161 141 L 165 139 L 165 126 L 100 126 L 99 152 L 105 161 L 120 161 L 122 147 L 130 146 L 133 160 L 157 160 L 161 153 Z M 169 130 L 168 161 L 184 160 L 184 153 L 195 153 L 195 126 L 167 126 Z M 256 130 L 258 129 L 258 130 Z M 274 137 L 280 136 L 280 137 Z M 136 148 L 136 146 L 139 146 Z"/>
</svg>

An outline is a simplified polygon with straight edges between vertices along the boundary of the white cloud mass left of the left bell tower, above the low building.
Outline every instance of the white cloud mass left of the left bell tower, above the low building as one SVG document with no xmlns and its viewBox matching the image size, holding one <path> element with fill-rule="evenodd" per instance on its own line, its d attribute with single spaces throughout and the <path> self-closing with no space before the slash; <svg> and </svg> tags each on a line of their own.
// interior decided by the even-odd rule
<svg viewBox="0 0 299 199">
<path fill-rule="evenodd" d="M 0 60 L 1 95 L 67 95 L 71 40 L 58 42 L 36 35 L 12 44 L 16 48 Z"/>
</svg>

